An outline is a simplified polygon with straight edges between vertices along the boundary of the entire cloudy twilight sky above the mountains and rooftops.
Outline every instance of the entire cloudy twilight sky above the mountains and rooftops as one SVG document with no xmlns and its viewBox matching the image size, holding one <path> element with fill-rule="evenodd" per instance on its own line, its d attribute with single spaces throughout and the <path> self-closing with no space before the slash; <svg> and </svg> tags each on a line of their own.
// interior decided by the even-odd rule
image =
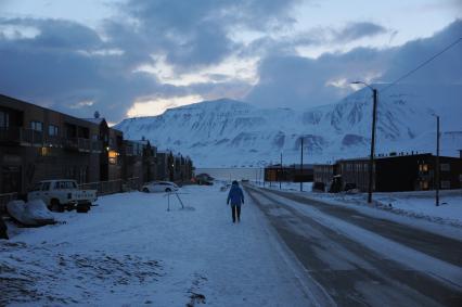
<svg viewBox="0 0 462 307">
<path fill-rule="evenodd" d="M 0 93 L 110 123 L 220 98 L 303 110 L 461 37 L 459 0 L 0 0 Z M 461 54 L 406 82 L 462 85 Z"/>
</svg>

